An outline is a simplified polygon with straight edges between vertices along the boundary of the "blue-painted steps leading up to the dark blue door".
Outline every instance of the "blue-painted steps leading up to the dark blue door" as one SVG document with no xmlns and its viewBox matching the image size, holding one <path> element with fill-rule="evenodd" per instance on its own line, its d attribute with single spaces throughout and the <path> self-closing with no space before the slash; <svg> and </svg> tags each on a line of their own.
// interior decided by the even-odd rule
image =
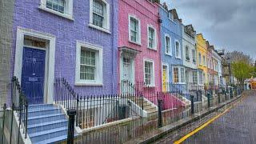
<svg viewBox="0 0 256 144">
<path fill-rule="evenodd" d="M 67 138 L 68 119 L 62 109 L 52 104 L 28 107 L 27 131 L 32 143 L 63 142 Z"/>
</svg>

